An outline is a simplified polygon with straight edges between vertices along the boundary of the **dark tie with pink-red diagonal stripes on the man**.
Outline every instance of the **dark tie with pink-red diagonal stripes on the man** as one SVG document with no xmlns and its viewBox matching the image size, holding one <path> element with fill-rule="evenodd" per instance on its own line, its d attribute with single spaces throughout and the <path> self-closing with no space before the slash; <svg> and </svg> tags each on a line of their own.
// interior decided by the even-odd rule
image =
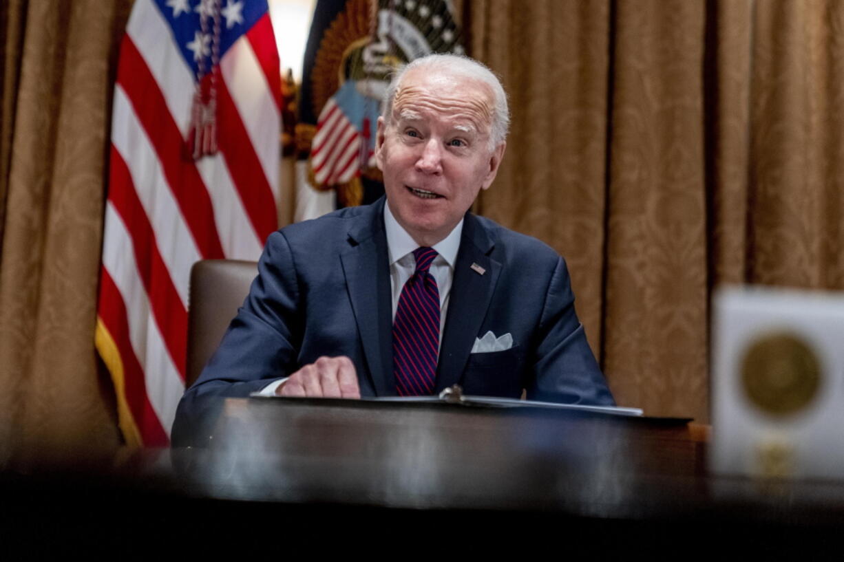
<svg viewBox="0 0 844 562">
<path fill-rule="evenodd" d="M 392 322 L 392 370 L 399 396 L 434 392 L 436 356 L 440 349 L 440 291 L 428 271 L 436 250 L 414 250 L 416 271 L 398 297 Z"/>
</svg>

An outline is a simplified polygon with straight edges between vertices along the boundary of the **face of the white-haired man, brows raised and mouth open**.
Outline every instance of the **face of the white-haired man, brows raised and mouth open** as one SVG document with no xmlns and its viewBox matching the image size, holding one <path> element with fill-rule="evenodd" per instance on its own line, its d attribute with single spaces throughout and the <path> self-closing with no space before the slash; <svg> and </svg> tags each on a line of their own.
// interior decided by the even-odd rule
<svg viewBox="0 0 844 562">
<path fill-rule="evenodd" d="M 419 245 L 445 238 L 495 179 L 505 147 L 490 150 L 492 113 L 486 84 L 420 68 L 405 74 L 390 123 L 378 120 L 387 202 Z"/>
</svg>

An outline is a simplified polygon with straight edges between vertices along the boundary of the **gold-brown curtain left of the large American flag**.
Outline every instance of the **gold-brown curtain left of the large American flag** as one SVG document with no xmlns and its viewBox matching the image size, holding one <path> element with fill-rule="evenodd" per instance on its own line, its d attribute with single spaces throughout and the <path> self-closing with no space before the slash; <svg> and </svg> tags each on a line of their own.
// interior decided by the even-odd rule
<svg viewBox="0 0 844 562">
<path fill-rule="evenodd" d="M 128 2 L 12 0 L 0 136 L 0 466 L 119 444 L 94 351 L 111 92 Z"/>
</svg>

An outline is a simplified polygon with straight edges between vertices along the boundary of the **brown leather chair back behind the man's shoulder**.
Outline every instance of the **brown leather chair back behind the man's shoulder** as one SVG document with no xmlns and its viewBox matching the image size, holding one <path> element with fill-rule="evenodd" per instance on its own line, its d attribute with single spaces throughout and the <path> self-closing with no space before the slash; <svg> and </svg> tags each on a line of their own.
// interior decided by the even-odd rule
<svg viewBox="0 0 844 562">
<path fill-rule="evenodd" d="M 191 268 L 187 327 L 187 386 L 211 359 L 249 293 L 257 262 L 203 260 Z"/>
</svg>

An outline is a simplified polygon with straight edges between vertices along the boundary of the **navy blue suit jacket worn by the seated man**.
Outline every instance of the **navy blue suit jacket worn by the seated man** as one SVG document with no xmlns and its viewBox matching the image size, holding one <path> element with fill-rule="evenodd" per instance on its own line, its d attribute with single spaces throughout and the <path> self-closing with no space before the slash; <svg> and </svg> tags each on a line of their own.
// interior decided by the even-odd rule
<svg viewBox="0 0 844 562">
<path fill-rule="evenodd" d="M 246 301 L 179 404 L 174 433 L 208 413 L 206 398 L 248 396 L 322 355 L 352 359 L 362 397 L 396 394 L 384 201 L 270 235 Z M 512 348 L 471 354 L 488 331 L 511 333 Z M 527 389 L 531 399 L 614 403 L 577 320 L 563 259 L 472 213 L 463 222 L 436 392 L 456 383 L 466 394 L 519 397 Z"/>
</svg>

